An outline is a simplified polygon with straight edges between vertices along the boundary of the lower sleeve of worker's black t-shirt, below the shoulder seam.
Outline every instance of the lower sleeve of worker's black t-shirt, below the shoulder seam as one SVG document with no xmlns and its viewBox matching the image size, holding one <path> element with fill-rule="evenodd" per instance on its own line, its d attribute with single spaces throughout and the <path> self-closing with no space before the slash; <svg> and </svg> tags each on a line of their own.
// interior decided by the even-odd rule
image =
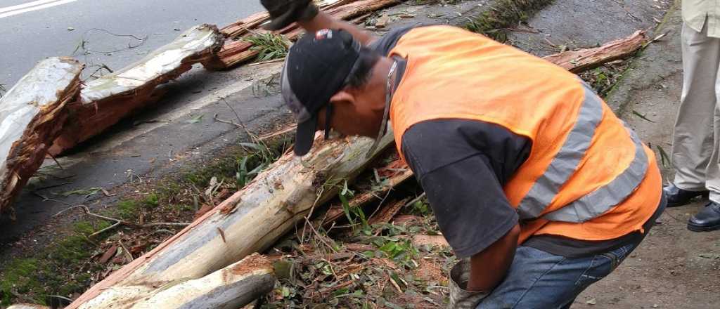
<svg viewBox="0 0 720 309">
<path fill-rule="evenodd" d="M 420 179 L 443 235 L 455 254 L 481 252 L 518 223 L 487 157 L 474 154 Z"/>
</svg>

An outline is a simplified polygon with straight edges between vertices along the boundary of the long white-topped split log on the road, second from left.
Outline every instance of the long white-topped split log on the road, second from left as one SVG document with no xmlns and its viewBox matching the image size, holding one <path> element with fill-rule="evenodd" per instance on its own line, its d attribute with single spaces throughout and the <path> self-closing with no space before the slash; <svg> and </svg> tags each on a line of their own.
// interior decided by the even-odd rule
<svg viewBox="0 0 720 309">
<path fill-rule="evenodd" d="M 157 99 L 153 97 L 156 86 L 212 57 L 223 40 L 217 27 L 201 24 L 138 63 L 87 82 L 80 93 L 81 101 L 68 105 L 71 121 L 55 139 L 50 153 L 60 154 L 148 106 Z"/>
</svg>

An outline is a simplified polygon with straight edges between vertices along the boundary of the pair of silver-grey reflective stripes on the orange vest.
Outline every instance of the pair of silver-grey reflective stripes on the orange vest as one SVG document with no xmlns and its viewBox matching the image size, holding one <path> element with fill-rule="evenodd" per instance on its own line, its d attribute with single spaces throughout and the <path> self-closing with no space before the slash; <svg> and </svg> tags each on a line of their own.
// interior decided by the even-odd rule
<svg viewBox="0 0 720 309">
<path fill-rule="evenodd" d="M 585 99 L 580 107 L 575 126 L 559 149 L 544 174 L 539 177 L 518 206 L 521 220 L 538 218 L 550 205 L 562 185 L 575 173 L 580 160 L 590 147 L 600 120 L 603 117 L 603 101 L 590 87 L 582 83 Z M 626 127 L 627 129 L 627 127 Z M 607 185 L 592 193 L 546 213 L 543 218 L 550 221 L 585 222 L 613 208 L 627 198 L 642 182 L 647 170 L 647 156 L 642 142 L 635 132 L 628 129 L 635 144 L 635 157 L 629 167 Z"/>
</svg>

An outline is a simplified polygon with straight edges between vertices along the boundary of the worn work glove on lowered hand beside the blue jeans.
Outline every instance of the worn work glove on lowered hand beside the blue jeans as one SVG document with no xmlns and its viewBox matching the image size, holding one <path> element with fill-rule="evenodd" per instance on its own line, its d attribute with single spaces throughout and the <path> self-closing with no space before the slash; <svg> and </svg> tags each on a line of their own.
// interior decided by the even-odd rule
<svg viewBox="0 0 720 309">
<path fill-rule="evenodd" d="M 470 260 L 462 259 L 450 269 L 450 303 L 448 309 L 474 309 L 485 298 L 487 292 L 465 290 L 470 280 Z"/>
</svg>

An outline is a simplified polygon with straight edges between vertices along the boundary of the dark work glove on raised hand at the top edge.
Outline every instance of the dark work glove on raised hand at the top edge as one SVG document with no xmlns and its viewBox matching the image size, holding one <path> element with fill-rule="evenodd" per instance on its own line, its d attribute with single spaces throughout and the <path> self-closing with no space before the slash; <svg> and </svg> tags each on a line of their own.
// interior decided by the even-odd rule
<svg viewBox="0 0 720 309">
<path fill-rule="evenodd" d="M 308 21 L 318 14 L 318 6 L 312 0 L 260 0 L 260 3 L 272 19 L 264 26 L 268 30 L 279 30 L 293 22 Z"/>
</svg>

